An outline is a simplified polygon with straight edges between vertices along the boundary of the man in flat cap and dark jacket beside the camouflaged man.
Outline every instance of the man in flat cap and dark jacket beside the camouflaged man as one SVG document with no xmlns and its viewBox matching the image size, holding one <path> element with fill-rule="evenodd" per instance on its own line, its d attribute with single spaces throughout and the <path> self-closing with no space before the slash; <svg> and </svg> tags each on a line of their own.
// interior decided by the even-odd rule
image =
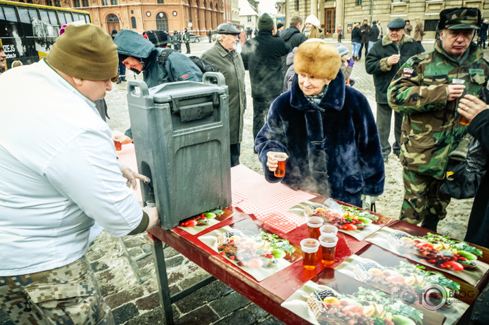
<svg viewBox="0 0 489 325">
<path fill-rule="evenodd" d="M 412 55 L 423 52 L 418 42 L 405 34 L 406 21 L 403 18 L 395 18 L 387 24 L 388 35 L 381 42 L 375 42 L 367 54 L 365 68 L 367 73 L 373 75 L 375 83 L 375 101 L 377 101 L 377 128 L 379 130 L 380 146 L 384 161 L 388 161 L 391 153 L 389 134 L 391 133 L 392 109 L 388 105 L 387 88 L 397 70 Z M 395 142 L 392 150 L 399 156 L 401 151 L 401 123 L 402 114 L 394 114 Z"/>
</svg>

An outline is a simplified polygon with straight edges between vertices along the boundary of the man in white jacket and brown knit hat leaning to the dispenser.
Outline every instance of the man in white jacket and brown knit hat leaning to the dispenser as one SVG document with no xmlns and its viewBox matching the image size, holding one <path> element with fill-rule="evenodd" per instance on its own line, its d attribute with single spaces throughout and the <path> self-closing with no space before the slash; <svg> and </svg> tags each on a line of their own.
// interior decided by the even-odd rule
<svg viewBox="0 0 489 325">
<path fill-rule="evenodd" d="M 14 322 L 114 324 L 84 257 L 90 228 L 122 237 L 157 224 L 95 108 L 117 67 L 108 34 L 69 25 L 47 60 L 0 77 L 0 306 Z"/>
</svg>

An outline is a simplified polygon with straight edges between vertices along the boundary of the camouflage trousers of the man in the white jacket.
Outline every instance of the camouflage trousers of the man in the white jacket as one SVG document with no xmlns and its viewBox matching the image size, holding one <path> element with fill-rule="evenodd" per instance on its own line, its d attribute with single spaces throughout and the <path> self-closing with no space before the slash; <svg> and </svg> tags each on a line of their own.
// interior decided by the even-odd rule
<svg viewBox="0 0 489 325">
<path fill-rule="evenodd" d="M 85 257 L 53 270 L 0 276 L 0 307 L 14 324 L 115 323 Z"/>
</svg>

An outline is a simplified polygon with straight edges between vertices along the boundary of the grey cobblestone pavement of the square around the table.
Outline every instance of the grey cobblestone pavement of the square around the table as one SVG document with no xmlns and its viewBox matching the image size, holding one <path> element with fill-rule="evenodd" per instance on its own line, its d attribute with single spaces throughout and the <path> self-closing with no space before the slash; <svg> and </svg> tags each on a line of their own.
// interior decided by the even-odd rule
<svg viewBox="0 0 489 325">
<path fill-rule="evenodd" d="M 332 44 L 336 41 L 330 40 Z M 343 44 L 352 51 L 349 41 Z M 191 55 L 201 55 L 211 44 L 202 40 L 191 44 Z M 423 42 L 423 46 L 432 49 L 432 40 Z M 488 53 L 486 53 L 487 57 Z M 127 78 L 133 73 L 128 71 Z M 142 79 L 142 75 L 135 76 Z M 355 63 L 352 78 L 356 89 L 367 97 L 375 116 L 375 88 L 371 75 L 365 73 L 364 60 Z M 127 110 L 126 83 L 113 84 L 107 93 L 108 124 L 111 129 L 125 131 L 130 125 Z M 245 130 L 241 142 L 241 164 L 261 172 L 261 164 L 252 152 L 251 132 L 252 100 L 250 79 L 246 75 L 248 107 L 245 114 Z M 393 127 L 391 128 L 393 129 Z M 391 132 L 393 133 L 393 132 Z M 393 134 L 391 135 L 393 138 Z M 393 140 L 393 139 L 392 139 Z M 394 163 L 393 163 L 394 164 Z M 464 233 L 464 229 L 461 230 Z M 458 231 L 460 233 L 460 231 Z M 146 234 L 114 238 L 103 232 L 87 252 L 88 259 L 101 286 L 101 293 L 114 312 L 116 324 L 163 324 L 163 312 L 159 306 L 158 286 L 151 255 L 152 242 Z M 173 248 L 164 248 L 170 281 L 171 294 L 185 289 L 208 276 L 207 272 L 176 252 Z M 484 313 L 489 311 L 489 298 L 486 291 L 476 303 L 478 324 L 489 324 Z M 199 289 L 194 294 L 176 302 L 172 306 L 176 324 L 282 324 L 276 317 L 256 306 L 220 281 L 215 281 Z M 0 313 L 0 325 L 13 324 L 5 314 Z"/>
</svg>

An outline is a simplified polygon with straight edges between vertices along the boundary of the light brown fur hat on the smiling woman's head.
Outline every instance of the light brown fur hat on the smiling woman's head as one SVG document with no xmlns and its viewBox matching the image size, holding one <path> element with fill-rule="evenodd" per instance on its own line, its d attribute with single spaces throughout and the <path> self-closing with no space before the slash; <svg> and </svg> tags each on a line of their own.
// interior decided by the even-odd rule
<svg viewBox="0 0 489 325">
<path fill-rule="evenodd" d="M 300 44 L 294 55 L 295 72 L 333 80 L 340 70 L 341 57 L 336 47 L 311 38 Z"/>
</svg>

